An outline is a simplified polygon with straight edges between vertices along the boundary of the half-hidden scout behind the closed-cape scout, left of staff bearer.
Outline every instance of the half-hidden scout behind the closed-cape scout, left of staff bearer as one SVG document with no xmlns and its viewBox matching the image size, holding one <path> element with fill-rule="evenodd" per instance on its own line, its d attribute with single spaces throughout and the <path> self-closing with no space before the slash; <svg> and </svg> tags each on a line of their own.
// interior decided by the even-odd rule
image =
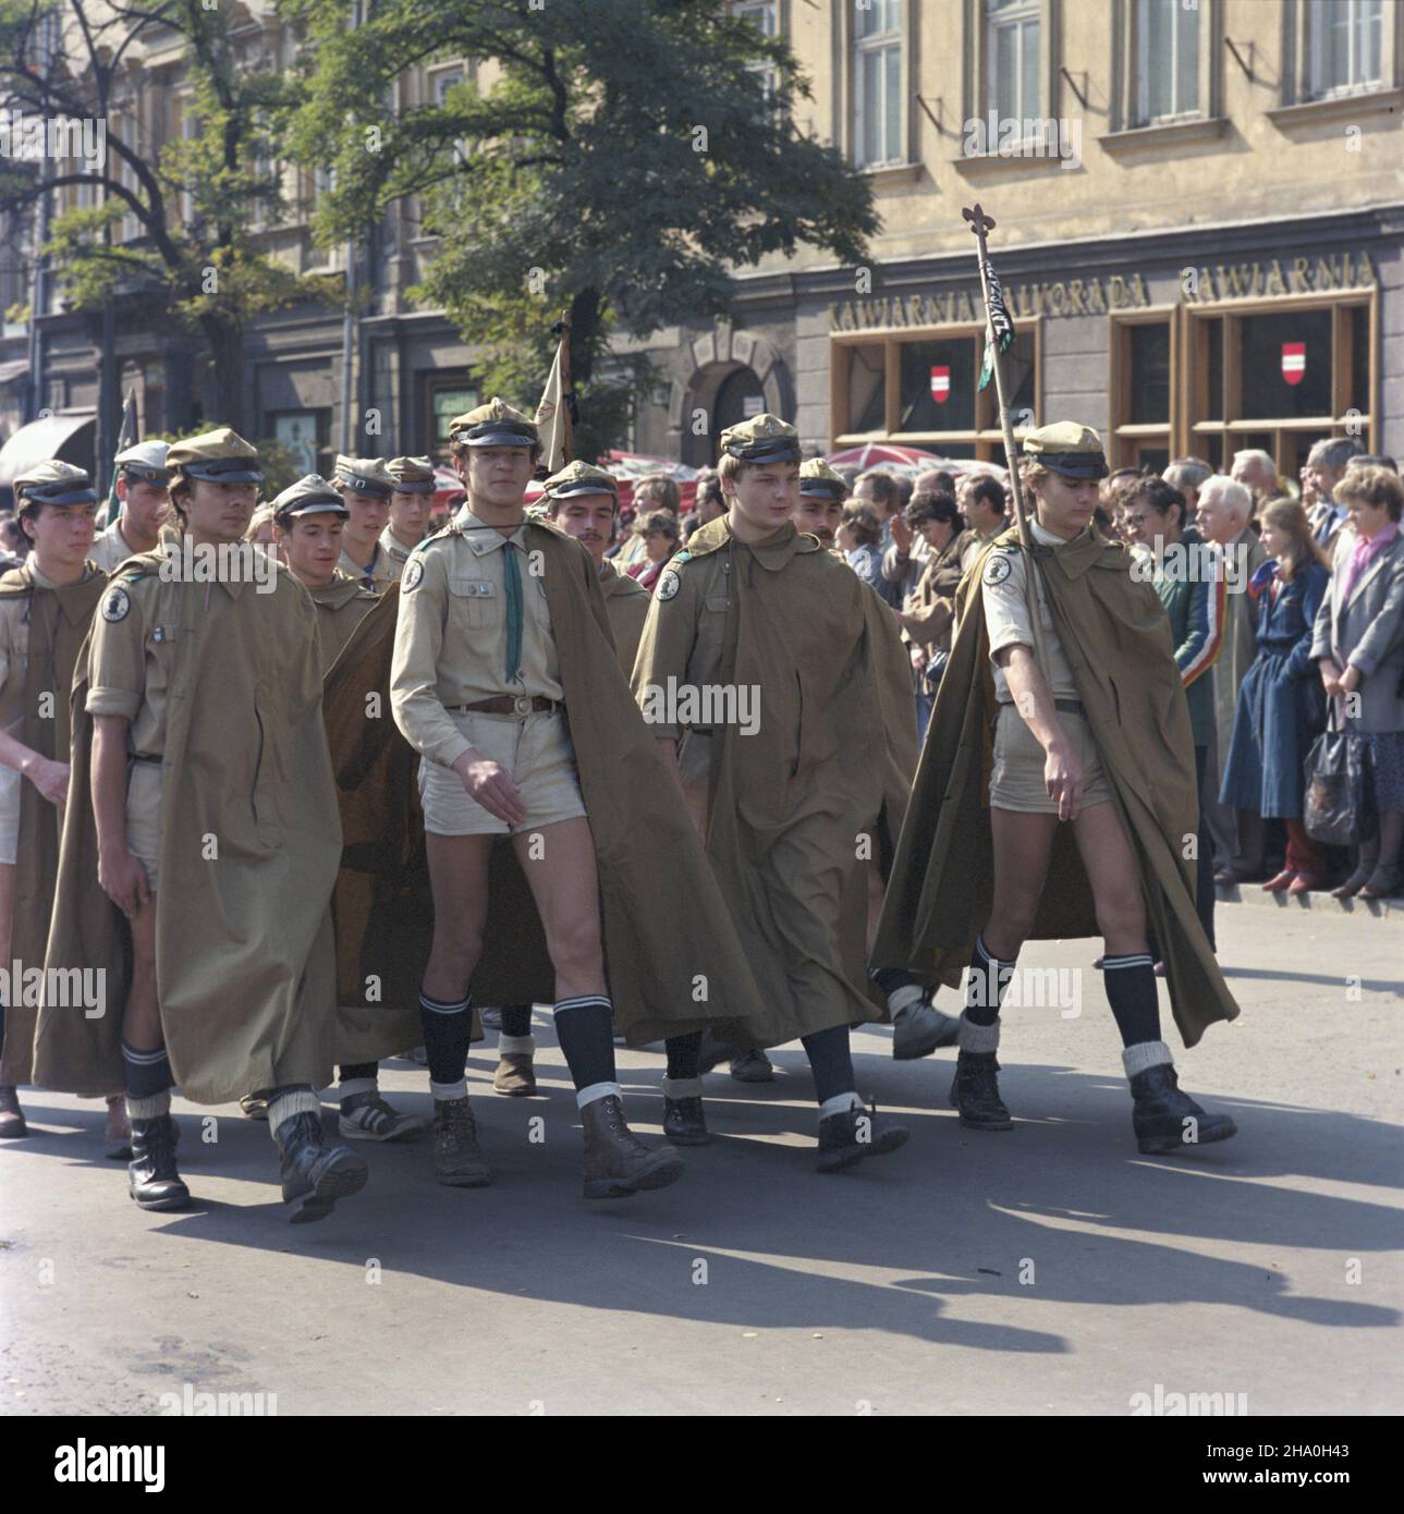
<svg viewBox="0 0 1404 1514">
<path fill-rule="evenodd" d="M 800 503 L 795 506 L 795 530 L 807 531 L 819 544 L 847 565 L 845 553 L 835 548 L 839 525 L 844 521 L 844 500 L 848 497 L 848 486 L 842 474 L 824 462 L 822 457 L 809 457 L 800 465 Z M 903 696 L 903 686 L 907 680 L 906 653 L 901 637 L 897 634 L 897 621 L 886 600 L 872 584 L 859 580 L 868 590 L 865 607 L 868 610 L 868 630 L 872 645 L 878 648 L 885 675 L 878 687 L 888 695 L 883 710 L 883 734 L 894 743 L 892 760 L 903 772 L 910 774 L 916 768 L 916 754 L 912 746 L 912 699 Z M 886 892 L 885 863 L 891 864 L 892 851 L 885 857 L 872 857 L 868 863 L 868 948 L 877 936 L 877 922 L 881 914 L 883 895 Z M 912 1061 L 918 1057 L 928 1057 L 942 1046 L 954 1046 L 960 1033 L 960 1022 L 938 1010 L 916 974 L 901 967 L 883 967 L 872 975 L 880 993 L 886 998 L 888 1013 L 892 1016 L 892 1057 L 895 1061 Z M 763 1052 L 753 1052 L 763 1057 Z M 736 1076 L 733 1067 L 732 1075 Z M 745 1079 L 742 1079 L 745 1081 Z"/>
</svg>

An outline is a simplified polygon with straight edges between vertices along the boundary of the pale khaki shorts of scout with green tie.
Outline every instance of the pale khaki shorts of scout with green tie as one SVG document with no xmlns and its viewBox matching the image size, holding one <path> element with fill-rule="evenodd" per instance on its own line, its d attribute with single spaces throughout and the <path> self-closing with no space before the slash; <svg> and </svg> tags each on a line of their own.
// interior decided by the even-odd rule
<svg viewBox="0 0 1404 1514">
<path fill-rule="evenodd" d="M 507 825 L 468 798 L 453 768 L 426 759 L 420 763 L 426 831 L 433 836 L 519 836 L 585 815 L 576 748 L 560 710 L 524 716 L 450 712 L 448 718 L 463 740 L 512 774 L 527 818 L 521 825 Z"/>
</svg>

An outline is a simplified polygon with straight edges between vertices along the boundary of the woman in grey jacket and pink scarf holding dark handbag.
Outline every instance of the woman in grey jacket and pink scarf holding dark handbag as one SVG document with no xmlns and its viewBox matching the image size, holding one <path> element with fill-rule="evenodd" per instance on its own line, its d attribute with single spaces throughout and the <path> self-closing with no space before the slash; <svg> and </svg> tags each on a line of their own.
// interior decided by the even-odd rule
<svg viewBox="0 0 1404 1514">
<path fill-rule="evenodd" d="M 1346 524 L 1331 586 L 1316 615 L 1312 660 L 1360 739 L 1374 780 L 1378 830 L 1333 893 L 1381 899 L 1399 886 L 1404 839 L 1404 484 L 1387 468 L 1353 468 L 1336 484 Z"/>
</svg>

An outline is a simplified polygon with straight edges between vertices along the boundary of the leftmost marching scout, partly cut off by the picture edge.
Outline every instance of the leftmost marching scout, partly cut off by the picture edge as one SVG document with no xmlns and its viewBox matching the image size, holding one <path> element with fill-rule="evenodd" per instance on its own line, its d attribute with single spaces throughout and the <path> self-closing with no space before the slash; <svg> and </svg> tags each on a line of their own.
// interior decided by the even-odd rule
<svg viewBox="0 0 1404 1514">
<path fill-rule="evenodd" d="M 68 799 L 68 689 L 106 577 L 91 560 L 97 495 L 82 468 L 47 462 L 15 480 L 33 550 L 0 577 L 0 964 L 44 967 Z M 0 996 L 0 1137 L 27 1134 L 15 1086 L 30 1081 L 35 1010 Z M 120 1087 L 121 1078 L 109 1087 Z M 121 1095 L 108 1098 L 106 1152 L 132 1152 Z"/>
</svg>

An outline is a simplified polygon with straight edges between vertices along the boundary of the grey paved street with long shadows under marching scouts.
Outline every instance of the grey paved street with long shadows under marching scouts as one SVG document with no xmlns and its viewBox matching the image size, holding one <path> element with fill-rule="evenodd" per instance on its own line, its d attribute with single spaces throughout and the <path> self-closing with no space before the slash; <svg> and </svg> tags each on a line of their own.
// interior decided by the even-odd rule
<svg viewBox="0 0 1404 1514">
<path fill-rule="evenodd" d="M 1025 963 L 1089 969 L 1090 946 Z M 1006 1014 L 1013 1134 L 957 1125 L 954 1052 L 897 1064 L 865 1031 L 859 1083 L 910 1120 L 901 1154 L 815 1173 L 786 1049 L 775 1084 L 709 1078 L 719 1139 L 613 1204 L 580 1199 L 544 1014 L 545 1098 L 492 1096 L 474 1048 L 494 1187 L 436 1187 L 424 1142 L 368 1148 L 367 1192 L 312 1226 L 283 1220 L 267 1126 L 238 1110 L 177 1102 L 198 1208 L 153 1216 L 101 1160 L 100 1105 L 29 1093 L 35 1134 L 0 1151 L 0 1403 L 151 1414 L 189 1384 L 279 1414 L 1127 1414 L 1159 1384 L 1248 1414 L 1399 1413 L 1404 921 L 1231 905 L 1221 952 L 1243 1014 L 1180 1069 L 1240 1134 L 1193 1160 L 1137 1157 L 1090 970 L 1063 980 L 1074 1017 Z M 645 1136 L 660 1070 L 621 1052 Z M 382 1083 L 427 1111 L 423 1070 Z"/>
</svg>

